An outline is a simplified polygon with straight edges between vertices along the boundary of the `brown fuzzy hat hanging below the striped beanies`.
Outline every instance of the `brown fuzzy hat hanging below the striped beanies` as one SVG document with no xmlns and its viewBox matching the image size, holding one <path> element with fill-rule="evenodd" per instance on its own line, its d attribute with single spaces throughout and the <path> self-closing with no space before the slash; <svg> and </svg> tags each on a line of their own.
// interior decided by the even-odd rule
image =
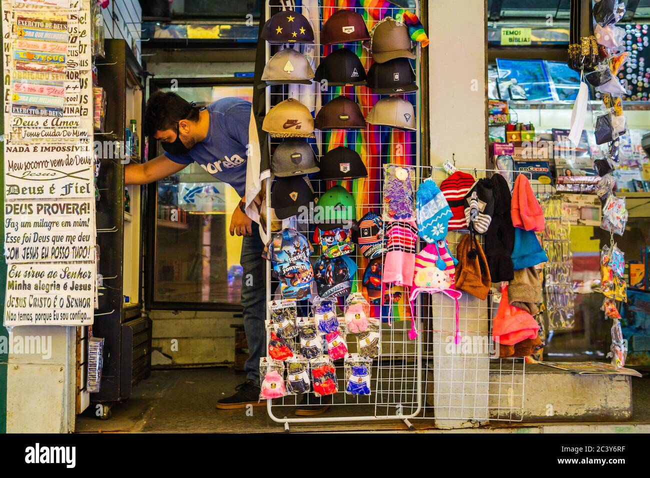
<svg viewBox="0 0 650 478">
<path fill-rule="evenodd" d="M 456 258 L 456 289 L 485 300 L 491 281 L 489 269 L 483 249 L 473 235 L 465 234 L 460 240 Z"/>
</svg>

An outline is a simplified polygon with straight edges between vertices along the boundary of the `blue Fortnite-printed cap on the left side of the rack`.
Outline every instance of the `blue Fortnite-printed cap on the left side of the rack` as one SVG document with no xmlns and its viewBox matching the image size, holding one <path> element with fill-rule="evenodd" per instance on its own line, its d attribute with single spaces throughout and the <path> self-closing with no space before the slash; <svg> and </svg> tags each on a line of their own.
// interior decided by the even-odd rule
<svg viewBox="0 0 650 478">
<path fill-rule="evenodd" d="M 272 236 L 268 249 L 282 298 L 309 298 L 314 271 L 309 262 L 311 247 L 307 238 L 294 229 L 283 229 Z"/>
</svg>

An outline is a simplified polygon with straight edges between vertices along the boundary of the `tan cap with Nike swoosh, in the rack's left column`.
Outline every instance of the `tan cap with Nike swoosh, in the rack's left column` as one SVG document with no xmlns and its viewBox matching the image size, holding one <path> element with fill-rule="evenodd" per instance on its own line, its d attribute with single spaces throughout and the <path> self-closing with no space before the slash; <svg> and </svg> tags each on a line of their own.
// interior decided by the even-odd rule
<svg viewBox="0 0 650 478">
<path fill-rule="evenodd" d="M 309 109 L 293 98 L 272 107 L 264 117 L 262 129 L 274 138 L 315 137 L 314 119 Z"/>
</svg>

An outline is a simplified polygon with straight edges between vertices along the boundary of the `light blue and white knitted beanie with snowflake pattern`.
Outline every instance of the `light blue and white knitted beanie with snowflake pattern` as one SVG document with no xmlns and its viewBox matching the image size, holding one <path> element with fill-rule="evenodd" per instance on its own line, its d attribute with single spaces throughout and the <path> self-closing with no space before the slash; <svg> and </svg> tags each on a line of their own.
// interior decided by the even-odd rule
<svg viewBox="0 0 650 478">
<path fill-rule="evenodd" d="M 447 237 L 449 204 L 433 179 L 425 179 L 417 189 L 417 232 L 429 244 Z"/>
</svg>

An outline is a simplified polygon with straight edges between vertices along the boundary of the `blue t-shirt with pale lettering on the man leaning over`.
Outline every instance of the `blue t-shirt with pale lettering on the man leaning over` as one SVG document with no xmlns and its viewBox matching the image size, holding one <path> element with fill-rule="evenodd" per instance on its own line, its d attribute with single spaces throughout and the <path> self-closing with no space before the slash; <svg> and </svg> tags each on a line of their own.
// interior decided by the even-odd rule
<svg viewBox="0 0 650 478">
<path fill-rule="evenodd" d="M 207 105 L 210 126 L 207 136 L 188 153 L 164 155 L 181 165 L 196 162 L 214 178 L 228 183 L 237 194 L 246 191 L 246 154 L 251 104 L 240 98 L 222 98 Z"/>
</svg>

